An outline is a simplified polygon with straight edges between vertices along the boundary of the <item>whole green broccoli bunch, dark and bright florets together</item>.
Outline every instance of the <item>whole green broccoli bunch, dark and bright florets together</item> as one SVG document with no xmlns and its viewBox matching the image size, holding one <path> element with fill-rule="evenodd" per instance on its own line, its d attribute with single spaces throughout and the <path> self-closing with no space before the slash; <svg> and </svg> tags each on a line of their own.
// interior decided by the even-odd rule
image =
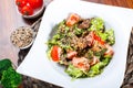
<svg viewBox="0 0 133 88">
<path fill-rule="evenodd" d="M 10 59 L 0 61 L 0 85 L 3 88 L 18 88 L 22 81 L 22 76 L 18 74 Z"/>
</svg>

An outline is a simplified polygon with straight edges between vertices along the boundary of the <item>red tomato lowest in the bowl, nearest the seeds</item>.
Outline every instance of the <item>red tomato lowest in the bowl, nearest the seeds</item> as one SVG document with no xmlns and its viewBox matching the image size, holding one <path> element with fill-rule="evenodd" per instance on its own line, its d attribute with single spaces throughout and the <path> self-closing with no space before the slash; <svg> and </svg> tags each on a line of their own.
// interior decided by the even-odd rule
<svg viewBox="0 0 133 88">
<path fill-rule="evenodd" d="M 19 10 L 23 15 L 32 15 L 33 14 L 33 9 L 30 6 L 24 6 L 23 8 L 20 8 Z"/>
</svg>

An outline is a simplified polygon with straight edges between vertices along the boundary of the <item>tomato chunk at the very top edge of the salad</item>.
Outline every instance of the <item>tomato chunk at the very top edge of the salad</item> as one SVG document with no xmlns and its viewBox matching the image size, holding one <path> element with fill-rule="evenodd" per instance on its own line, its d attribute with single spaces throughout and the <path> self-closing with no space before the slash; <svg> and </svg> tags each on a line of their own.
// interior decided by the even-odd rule
<svg viewBox="0 0 133 88">
<path fill-rule="evenodd" d="M 73 24 L 75 24 L 79 21 L 80 21 L 80 15 L 72 13 L 72 14 L 70 14 L 70 16 L 66 20 L 66 25 L 72 26 Z"/>
</svg>

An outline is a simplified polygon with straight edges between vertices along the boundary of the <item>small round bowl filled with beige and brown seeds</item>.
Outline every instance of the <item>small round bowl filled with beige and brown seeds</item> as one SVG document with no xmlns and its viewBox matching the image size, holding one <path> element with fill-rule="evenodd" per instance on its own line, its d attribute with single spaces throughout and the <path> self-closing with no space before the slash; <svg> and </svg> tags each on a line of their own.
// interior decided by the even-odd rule
<svg viewBox="0 0 133 88">
<path fill-rule="evenodd" d="M 11 34 L 11 42 L 20 48 L 30 46 L 33 41 L 33 31 L 30 28 L 19 28 Z"/>
</svg>

